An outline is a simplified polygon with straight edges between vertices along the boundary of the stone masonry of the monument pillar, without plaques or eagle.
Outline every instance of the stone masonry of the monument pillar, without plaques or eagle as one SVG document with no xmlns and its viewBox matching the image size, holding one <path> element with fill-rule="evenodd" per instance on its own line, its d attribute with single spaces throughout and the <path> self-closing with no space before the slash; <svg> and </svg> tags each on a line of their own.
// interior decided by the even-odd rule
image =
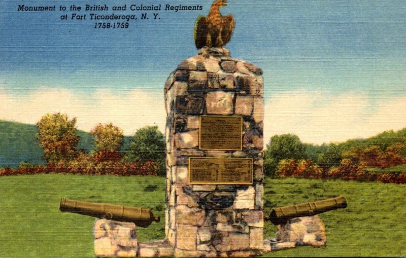
<svg viewBox="0 0 406 258">
<path fill-rule="evenodd" d="M 262 70 L 203 48 L 165 84 L 166 238 L 175 256 L 247 256 L 263 248 Z M 199 116 L 243 117 L 243 150 L 199 150 Z M 253 158 L 253 185 L 189 185 L 189 157 Z"/>
</svg>

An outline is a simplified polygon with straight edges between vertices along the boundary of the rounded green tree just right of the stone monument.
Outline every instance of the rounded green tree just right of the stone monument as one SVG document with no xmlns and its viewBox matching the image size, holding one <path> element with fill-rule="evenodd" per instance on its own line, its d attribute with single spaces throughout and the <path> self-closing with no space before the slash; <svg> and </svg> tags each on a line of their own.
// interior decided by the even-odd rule
<svg viewBox="0 0 406 258">
<path fill-rule="evenodd" d="M 274 176 L 278 164 L 284 159 L 305 158 L 306 146 L 294 134 L 274 135 L 270 137 L 264 152 L 265 173 Z"/>
</svg>

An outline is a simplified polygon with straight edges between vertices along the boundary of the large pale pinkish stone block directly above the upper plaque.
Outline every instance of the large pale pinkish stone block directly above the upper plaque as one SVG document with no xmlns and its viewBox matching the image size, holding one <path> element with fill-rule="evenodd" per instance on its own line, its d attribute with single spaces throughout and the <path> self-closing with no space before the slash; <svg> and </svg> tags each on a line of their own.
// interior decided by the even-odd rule
<svg viewBox="0 0 406 258">
<path fill-rule="evenodd" d="M 208 114 L 230 115 L 233 113 L 234 93 L 215 91 L 207 93 L 206 107 Z"/>
</svg>

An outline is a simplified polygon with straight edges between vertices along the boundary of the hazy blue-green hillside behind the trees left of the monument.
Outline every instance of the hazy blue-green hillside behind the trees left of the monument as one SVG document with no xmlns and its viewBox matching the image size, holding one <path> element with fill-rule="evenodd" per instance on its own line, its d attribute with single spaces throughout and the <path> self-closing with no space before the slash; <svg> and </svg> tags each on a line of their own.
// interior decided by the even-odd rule
<svg viewBox="0 0 406 258">
<path fill-rule="evenodd" d="M 44 151 L 36 139 L 36 125 L 22 124 L 0 120 L 0 167 L 16 168 L 20 162 L 45 164 Z M 93 150 L 93 136 L 84 131 L 78 131 L 80 141 L 78 149 L 89 153 Z M 124 137 L 124 148 L 131 137 Z M 124 151 L 124 150 L 122 150 Z"/>
</svg>

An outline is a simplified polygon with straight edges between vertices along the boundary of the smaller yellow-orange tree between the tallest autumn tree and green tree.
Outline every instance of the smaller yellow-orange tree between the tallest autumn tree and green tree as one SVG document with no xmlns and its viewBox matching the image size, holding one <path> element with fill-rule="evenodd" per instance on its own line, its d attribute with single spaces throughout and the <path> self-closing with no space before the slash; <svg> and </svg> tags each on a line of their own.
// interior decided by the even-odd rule
<svg viewBox="0 0 406 258">
<path fill-rule="evenodd" d="M 98 124 L 90 133 L 94 137 L 95 154 L 94 158 L 97 162 L 102 161 L 119 161 L 121 155 L 119 153 L 123 145 L 123 130 L 109 124 Z"/>
</svg>

